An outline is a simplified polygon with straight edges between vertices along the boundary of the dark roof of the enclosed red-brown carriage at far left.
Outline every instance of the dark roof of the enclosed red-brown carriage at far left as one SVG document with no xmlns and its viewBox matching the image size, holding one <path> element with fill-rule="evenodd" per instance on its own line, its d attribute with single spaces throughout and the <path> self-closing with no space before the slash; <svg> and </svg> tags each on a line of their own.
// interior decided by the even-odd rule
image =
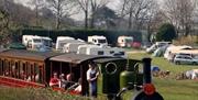
<svg viewBox="0 0 198 100">
<path fill-rule="evenodd" d="M 9 49 L 0 53 L 0 56 L 11 57 L 11 58 L 23 58 L 23 59 L 32 59 L 32 60 L 42 60 L 61 55 L 61 53 L 52 53 L 52 52 L 34 52 L 34 51 L 24 51 L 24 49 Z"/>
</svg>

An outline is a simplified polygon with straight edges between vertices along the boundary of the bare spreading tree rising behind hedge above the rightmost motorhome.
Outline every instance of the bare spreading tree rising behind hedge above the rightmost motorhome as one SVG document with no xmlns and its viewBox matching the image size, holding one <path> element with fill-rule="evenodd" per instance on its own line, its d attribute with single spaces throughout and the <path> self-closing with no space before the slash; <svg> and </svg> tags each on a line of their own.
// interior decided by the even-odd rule
<svg viewBox="0 0 198 100">
<path fill-rule="evenodd" d="M 154 0 L 121 0 L 121 18 L 128 16 L 129 29 L 140 30 L 155 7 Z M 133 23 L 133 24 L 132 24 Z"/>
</svg>

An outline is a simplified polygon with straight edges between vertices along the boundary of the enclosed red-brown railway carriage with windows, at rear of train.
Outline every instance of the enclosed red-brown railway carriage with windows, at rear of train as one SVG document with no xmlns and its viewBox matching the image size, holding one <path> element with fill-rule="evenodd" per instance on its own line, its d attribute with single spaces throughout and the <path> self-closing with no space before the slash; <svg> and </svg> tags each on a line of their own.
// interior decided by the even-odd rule
<svg viewBox="0 0 198 100">
<path fill-rule="evenodd" d="M 58 53 L 8 49 L 0 53 L 0 84 L 14 87 L 45 87 L 48 58 Z"/>
</svg>

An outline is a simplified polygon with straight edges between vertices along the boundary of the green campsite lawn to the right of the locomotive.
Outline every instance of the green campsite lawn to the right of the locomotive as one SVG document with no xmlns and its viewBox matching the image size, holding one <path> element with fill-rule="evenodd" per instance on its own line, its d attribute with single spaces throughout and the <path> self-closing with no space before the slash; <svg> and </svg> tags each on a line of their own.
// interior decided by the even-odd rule
<svg viewBox="0 0 198 100">
<path fill-rule="evenodd" d="M 130 58 L 152 57 L 145 53 L 130 54 Z M 176 80 L 175 76 L 182 71 L 198 68 L 193 65 L 175 65 L 163 57 L 152 57 L 152 65 L 162 70 L 170 70 L 168 78 L 153 78 L 157 91 L 165 100 L 198 100 L 198 80 Z M 129 97 L 129 96 L 128 96 Z"/>
</svg>

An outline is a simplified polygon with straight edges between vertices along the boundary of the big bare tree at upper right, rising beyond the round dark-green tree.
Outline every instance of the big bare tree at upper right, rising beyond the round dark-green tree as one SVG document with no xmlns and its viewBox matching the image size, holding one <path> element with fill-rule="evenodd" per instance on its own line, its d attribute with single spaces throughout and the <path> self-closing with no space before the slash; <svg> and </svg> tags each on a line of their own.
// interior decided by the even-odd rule
<svg viewBox="0 0 198 100">
<path fill-rule="evenodd" d="M 164 8 L 164 13 L 176 26 L 177 33 L 188 35 L 195 16 L 196 0 L 165 0 Z"/>
</svg>

